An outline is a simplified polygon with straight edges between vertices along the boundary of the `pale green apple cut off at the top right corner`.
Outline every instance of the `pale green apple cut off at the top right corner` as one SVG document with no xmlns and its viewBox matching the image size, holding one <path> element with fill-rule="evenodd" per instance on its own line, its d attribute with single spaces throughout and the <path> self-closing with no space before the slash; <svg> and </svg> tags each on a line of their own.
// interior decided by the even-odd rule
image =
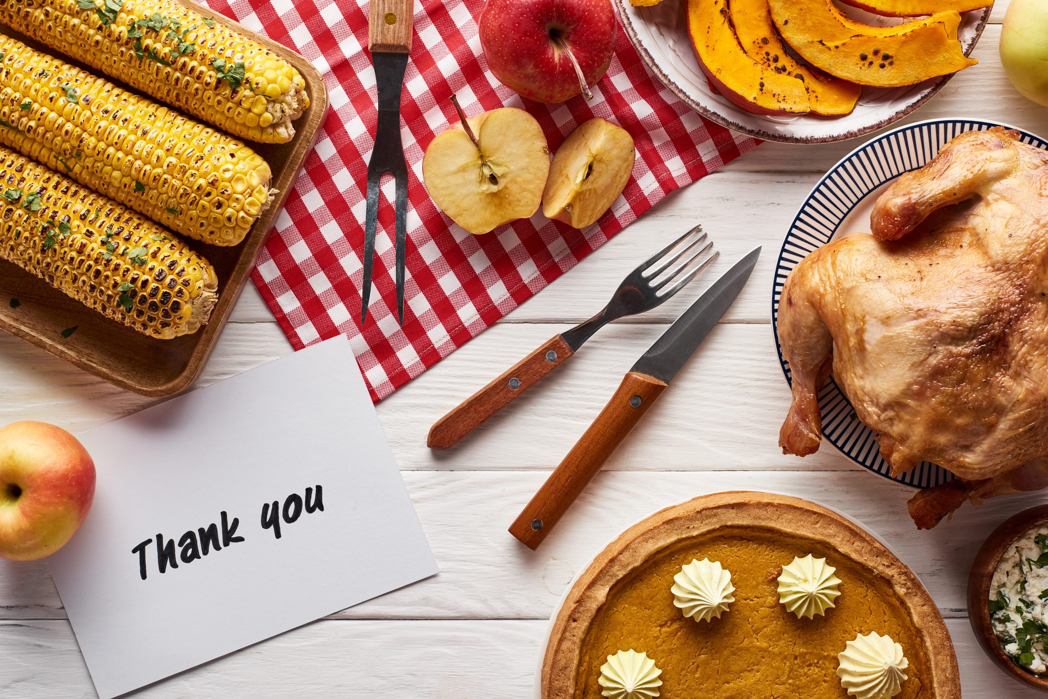
<svg viewBox="0 0 1048 699">
<path fill-rule="evenodd" d="M 1048 2 L 1011 0 L 1000 50 L 1004 72 L 1016 89 L 1048 107 Z"/>
</svg>

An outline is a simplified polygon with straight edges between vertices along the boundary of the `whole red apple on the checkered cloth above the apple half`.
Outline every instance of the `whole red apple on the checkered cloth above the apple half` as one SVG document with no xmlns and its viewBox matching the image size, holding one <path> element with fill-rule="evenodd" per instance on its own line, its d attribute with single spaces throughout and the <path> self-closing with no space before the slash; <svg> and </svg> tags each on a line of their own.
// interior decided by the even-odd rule
<svg viewBox="0 0 1048 699">
<path fill-rule="evenodd" d="M 586 85 L 604 77 L 617 28 L 611 0 L 487 0 L 480 46 L 506 87 L 556 104 L 583 91 L 572 57 Z"/>
</svg>

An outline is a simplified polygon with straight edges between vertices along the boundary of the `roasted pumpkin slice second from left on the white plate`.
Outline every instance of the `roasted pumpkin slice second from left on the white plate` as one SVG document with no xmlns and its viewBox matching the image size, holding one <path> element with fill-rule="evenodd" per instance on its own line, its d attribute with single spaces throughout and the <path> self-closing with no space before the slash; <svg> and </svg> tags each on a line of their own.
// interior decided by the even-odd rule
<svg viewBox="0 0 1048 699">
<path fill-rule="evenodd" d="M 768 0 L 730 0 L 728 10 L 735 34 L 749 58 L 782 75 L 792 75 L 808 90 L 809 109 L 816 114 L 850 114 L 863 87 L 809 69 L 794 61 L 779 40 Z"/>
</svg>

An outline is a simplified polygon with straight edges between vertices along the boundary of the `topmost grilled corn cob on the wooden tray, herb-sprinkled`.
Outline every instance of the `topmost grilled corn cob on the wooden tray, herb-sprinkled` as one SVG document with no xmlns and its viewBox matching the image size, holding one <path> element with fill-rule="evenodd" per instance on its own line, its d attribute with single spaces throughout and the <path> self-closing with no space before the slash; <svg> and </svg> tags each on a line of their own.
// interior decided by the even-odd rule
<svg viewBox="0 0 1048 699">
<path fill-rule="evenodd" d="M 284 144 L 306 82 L 262 44 L 177 0 L 7 0 L 3 22 L 249 140 Z"/>
</svg>

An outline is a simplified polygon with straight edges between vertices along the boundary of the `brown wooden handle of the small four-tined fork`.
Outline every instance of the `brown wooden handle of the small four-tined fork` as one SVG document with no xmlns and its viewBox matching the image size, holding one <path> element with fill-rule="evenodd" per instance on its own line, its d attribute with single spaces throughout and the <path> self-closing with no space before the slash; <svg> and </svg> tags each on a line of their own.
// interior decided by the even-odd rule
<svg viewBox="0 0 1048 699">
<path fill-rule="evenodd" d="M 564 337 L 560 334 L 553 335 L 545 345 L 502 372 L 501 376 L 434 422 L 430 428 L 425 445 L 432 449 L 445 449 L 458 442 L 572 354 L 574 351 L 568 347 Z"/>
</svg>

